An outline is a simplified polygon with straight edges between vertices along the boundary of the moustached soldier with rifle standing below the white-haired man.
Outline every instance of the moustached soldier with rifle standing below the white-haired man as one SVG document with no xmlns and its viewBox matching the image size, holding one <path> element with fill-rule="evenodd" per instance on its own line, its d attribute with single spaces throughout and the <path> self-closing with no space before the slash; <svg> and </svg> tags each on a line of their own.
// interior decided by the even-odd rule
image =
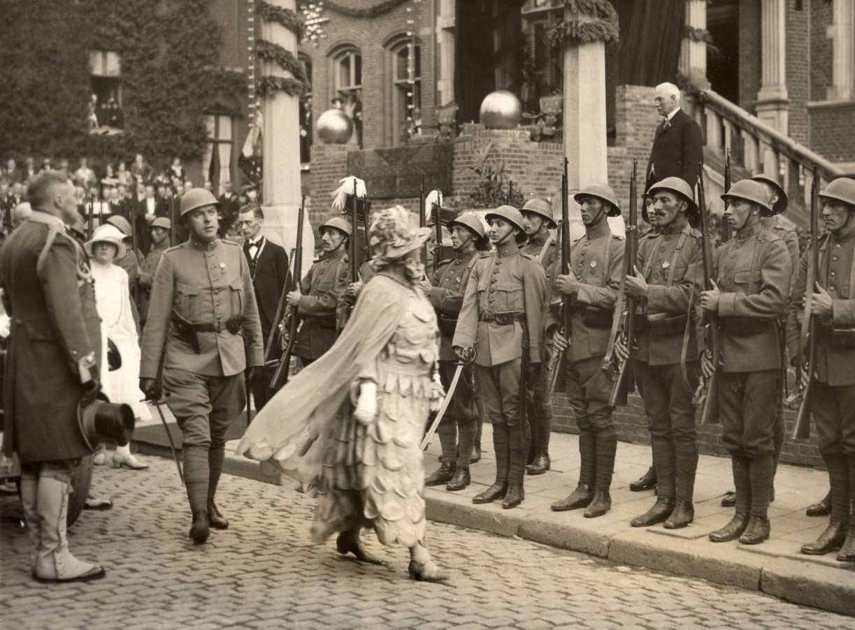
<svg viewBox="0 0 855 630">
<path fill-rule="evenodd" d="M 656 503 L 629 524 L 643 528 L 664 522 L 666 529 L 679 529 L 694 520 L 698 468 L 693 393 L 700 366 L 692 309 L 704 279 L 701 234 L 694 229 L 700 215 L 692 189 L 681 178 L 664 178 L 647 195 L 657 230 L 640 242 L 626 291 L 640 300 L 633 373 L 644 399 L 658 487 Z M 628 358 L 620 341 L 616 352 Z M 683 357 L 687 361 L 681 365 Z"/>
</svg>

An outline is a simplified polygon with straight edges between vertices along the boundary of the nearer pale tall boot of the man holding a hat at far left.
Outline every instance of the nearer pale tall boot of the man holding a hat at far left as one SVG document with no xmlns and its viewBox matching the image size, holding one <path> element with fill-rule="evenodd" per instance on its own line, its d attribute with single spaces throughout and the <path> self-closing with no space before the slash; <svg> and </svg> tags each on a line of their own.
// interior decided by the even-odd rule
<svg viewBox="0 0 855 630">
<path fill-rule="evenodd" d="M 39 476 L 36 509 L 40 541 L 33 577 L 38 582 L 85 582 L 103 578 L 101 566 L 78 560 L 68 551 L 68 482 Z"/>
</svg>

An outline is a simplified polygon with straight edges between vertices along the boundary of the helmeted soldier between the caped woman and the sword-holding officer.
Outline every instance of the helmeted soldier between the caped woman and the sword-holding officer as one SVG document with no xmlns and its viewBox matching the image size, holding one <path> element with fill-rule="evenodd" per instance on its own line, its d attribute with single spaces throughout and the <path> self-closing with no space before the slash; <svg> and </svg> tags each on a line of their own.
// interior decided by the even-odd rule
<svg viewBox="0 0 855 630">
<path fill-rule="evenodd" d="M 475 214 L 463 214 L 448 223 L 454 258 L 443 260 L 433 272 L 428 299 L 439 320 L 439 376 L 445 391 L 457 369 L 457 355 L 451 347 L 457 317 L 463 306 L 463 293 L 469 284 L 469 275 L 475 263 L 487 255 L 487 236 L 484 225 Z M 457 491 L 469 486 L 469 460 L 475 444 L 478 410 L 472 389 L 472 368 L 463 367 L 451 405 L 439 422 L 436 432 L 442 446 L 442 464 L 439 470 L 428 475 L 426 486 L 445 486 Z M 459 441 L 458 441 L 459 440 Z"/>
</svg>

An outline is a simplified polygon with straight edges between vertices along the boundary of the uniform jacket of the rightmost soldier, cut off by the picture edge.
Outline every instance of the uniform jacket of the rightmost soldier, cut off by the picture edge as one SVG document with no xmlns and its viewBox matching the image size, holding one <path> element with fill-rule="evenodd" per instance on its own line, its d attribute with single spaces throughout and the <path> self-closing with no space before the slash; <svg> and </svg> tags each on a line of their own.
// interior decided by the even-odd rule
<svg viewBox="0 0 855 630">
<path fill-rule="evenodd" d="M 791 357 L 798 356 L 799 352 L 802 298 L 810 255 L 810 251 L 805 252 L 799 261 L 790 295 L 787 347 Z M 832 342 L 829 330 L 855 328 L 855 225 L 847 225 L 843 233 L 833 232 L 825 238 L 819 249 L 817 281 L 832 300 L 831 317 L 820 320 L 817 380 L 828 385 L 855 385 L 855 345 Z"/>
</svg>

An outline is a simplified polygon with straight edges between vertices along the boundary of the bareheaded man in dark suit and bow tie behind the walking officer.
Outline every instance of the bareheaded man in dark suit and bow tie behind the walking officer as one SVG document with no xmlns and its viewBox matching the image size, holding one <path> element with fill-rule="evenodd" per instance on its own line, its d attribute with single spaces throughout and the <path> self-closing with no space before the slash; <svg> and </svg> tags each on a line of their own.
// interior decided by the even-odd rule
<svg viewBox="0 0 855 630">
<path fill-rule="evenodd" d="M 262 235 L 264 213 L 261 207 L 251 204 L 240 208 L 238 221 L 240 232 L 246 239 L 244 254 L 250 263 L 250 275 L 256 289 L 258 315 L 261 318 L 262 335 L 266 344 L 270 330 L 278 324 L 274 320 L 282 289 L 288 283 L 288 254 L 284 248 L 268 241 Z M 274 394 L 268 388 L 273 370 L 264 368 L 262 374 L 258 376 L 252 384 L 252 398 L 256 401 L 256 411 L 259 411 Z"/>
</svg>

